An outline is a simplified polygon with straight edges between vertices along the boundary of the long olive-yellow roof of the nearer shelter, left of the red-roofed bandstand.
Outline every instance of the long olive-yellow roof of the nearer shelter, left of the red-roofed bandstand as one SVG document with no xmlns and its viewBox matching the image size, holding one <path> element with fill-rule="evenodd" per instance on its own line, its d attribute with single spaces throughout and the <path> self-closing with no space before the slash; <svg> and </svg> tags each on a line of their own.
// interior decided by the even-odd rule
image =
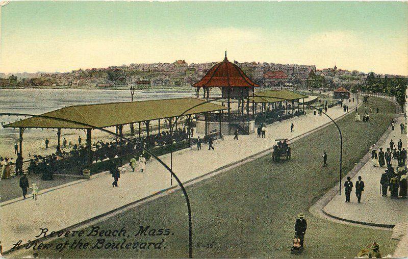
<svg viewBox="0 0 408 259">
<path fill-rule="evenodd" d="M 24 128 L 95 128 L 129 124 L 132 122 L 156 120 L 214 112 L 227 109 L 214 103 L 205 103 L 196 98 L 175 98 L 133 102 L 101 103 L 97 105 L 79 105 L 61 108 L 44 113 L 50 118 L 31 117 L 13 122 L 4 127 Z M 91 126 L 88 126 L 91 125 Z"/>
</svg>

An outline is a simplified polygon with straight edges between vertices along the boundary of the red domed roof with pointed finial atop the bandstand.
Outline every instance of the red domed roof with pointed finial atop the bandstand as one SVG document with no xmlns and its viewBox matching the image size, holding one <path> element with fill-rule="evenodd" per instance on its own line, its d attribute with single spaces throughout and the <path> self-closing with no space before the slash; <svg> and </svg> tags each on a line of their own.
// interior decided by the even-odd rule
<svg viewBox="0 0 408 259">
<path fill-rule="evenodd" d="M 234 63 L 226 58 L 213 66 L 200 81 L 193 87 L 258 87 L 248 76 Z"/>
</svg>

